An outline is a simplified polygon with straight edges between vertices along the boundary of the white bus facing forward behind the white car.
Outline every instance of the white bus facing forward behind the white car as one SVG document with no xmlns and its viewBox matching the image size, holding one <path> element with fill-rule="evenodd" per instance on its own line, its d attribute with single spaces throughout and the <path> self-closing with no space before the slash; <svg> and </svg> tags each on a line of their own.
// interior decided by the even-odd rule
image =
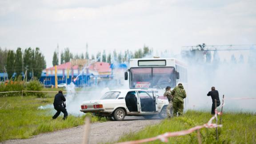
<svg viewBox="0 0 256 144">
<path fill-rule="evenodd" d="M 174 88 L 179 83 L 186 88 L 188 83 L 186 64 L 175 58 L 130 59 L 124 77 L 129 80 L 129 88 L 164 90 L 167 86 Z M 158 95 L 162 97 L 163 92 Z"/>
</svg>

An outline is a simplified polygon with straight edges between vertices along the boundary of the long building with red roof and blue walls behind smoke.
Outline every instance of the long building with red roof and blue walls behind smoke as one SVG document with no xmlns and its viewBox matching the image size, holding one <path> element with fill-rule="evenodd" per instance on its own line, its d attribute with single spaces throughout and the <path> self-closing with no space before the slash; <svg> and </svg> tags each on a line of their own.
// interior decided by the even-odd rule
<svg viewBox="0 0 256 144">
<path fill-rule="evenodd" d="M 94 62 L 87 67 L 82 67 L 82 65 L 78 60 L 57 65 L 58 84 L 73 82 L 78 87 L 84 87 L 112 79 L 112 69 L 108 63 Z M 55 85 L 55 67 L 44 69 L 40 81 L 47 86 Z"/>
</svg>

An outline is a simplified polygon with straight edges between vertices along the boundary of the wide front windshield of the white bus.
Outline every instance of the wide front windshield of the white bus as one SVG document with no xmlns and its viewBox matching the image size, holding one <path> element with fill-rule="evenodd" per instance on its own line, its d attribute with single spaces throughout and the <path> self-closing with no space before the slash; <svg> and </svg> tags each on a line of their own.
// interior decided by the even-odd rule
<svg viewBox="0 0 256 144">
<path fill-rule="evenodd" d="M 176 86 L 175 68 L 130 68 L 130 88 Z"/>
</svg>

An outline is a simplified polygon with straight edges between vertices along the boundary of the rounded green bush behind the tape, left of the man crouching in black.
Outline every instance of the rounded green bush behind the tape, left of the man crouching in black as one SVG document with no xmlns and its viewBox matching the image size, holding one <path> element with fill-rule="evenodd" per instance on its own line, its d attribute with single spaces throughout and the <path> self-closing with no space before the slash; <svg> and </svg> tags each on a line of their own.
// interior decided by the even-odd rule
<svg viewBox="0 0 256 144">
<path fill-rule="evenodd" d="M 25 90 L 27 91 L 42 91 L 44 86 L 40 84 L 39 81 L 29 81 L 25 84 Z M 37 96 L 37 97 L 44 97 L 43 92 L 25 92 L 26 96 Z"/>
</svg>

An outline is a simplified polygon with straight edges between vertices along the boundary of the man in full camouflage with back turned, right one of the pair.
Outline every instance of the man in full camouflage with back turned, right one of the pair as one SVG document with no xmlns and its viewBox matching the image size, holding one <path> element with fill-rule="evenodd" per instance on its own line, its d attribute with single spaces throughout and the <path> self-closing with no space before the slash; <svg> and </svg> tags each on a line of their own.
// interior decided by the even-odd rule
<svg viewBox="0 0 256 144">
<path fill-rule="evenodd" d="M 184 90 L 184 87 L 182 85 L 176 86 L 172 90 L 172 96 L 173 96 L 173 116 L 177 116 L 177 112 L 179 115 L 183 114 L 184 109 L 184 98 L 186 98 L 186 92 Z"/>
</svg>

